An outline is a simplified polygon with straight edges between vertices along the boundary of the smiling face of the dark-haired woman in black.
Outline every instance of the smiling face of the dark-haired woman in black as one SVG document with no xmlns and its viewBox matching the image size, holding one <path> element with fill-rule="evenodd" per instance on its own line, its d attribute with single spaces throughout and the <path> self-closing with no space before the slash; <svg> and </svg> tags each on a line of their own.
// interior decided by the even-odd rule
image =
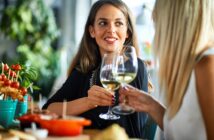
<svg viewBox="0 0 214 140">
<path fill-rule="evenodd" d="M 97 12 L 94 25 L 89 32 L 99 46 L 101 56 L 104 53 L 119 51 L 128 38 L 127 19 L 120 9 L 107 4 Z"/>
</svg>

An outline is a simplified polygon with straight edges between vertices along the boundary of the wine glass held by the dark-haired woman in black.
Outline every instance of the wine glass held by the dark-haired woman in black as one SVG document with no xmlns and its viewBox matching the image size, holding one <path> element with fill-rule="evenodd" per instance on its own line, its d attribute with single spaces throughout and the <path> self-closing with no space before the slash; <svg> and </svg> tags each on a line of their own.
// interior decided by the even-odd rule
<svg viewBox="0 0 214 140">
<path fill-rule="evenodd" d="M 102 58 L 102 64 L 100 68 L 100 81 L 104 88 L 109 91 L 115 91 L 120 87 L 120 83 L 116 81 L 113 75 L 115 54 L 104 54 Z M 100 114 L 99 117 L 105 120 L 117 120 L 120 116 L 112 113 L 112 107 L 109 106 L 108 112 L 105 114 Z"/>
</svg>

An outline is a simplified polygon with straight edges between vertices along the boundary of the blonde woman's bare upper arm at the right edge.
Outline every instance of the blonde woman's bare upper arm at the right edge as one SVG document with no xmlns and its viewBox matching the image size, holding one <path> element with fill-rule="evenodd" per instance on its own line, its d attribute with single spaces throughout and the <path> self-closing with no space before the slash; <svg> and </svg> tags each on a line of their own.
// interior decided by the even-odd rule
<svg viewBox="0 0 214 140">
<path fill-rule="evenodd" d="M 214 139 L 214 56 L 206 56 L 195 68 L 197 93 L 203 119 L 206 126 L 207 139 Z"/>
</svg>

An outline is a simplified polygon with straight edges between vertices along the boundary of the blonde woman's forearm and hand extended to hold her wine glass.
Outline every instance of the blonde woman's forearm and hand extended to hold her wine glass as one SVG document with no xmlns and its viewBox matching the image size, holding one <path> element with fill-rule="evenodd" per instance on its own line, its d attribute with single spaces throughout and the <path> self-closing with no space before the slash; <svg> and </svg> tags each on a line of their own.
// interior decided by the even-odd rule
<svg viewBox="0 0 214 140">
<path fill-rule="evenodd" d="M 159 127 L 163 128 L 163 116 L 165 113 L 165 108 L 151 95 L 130 85 L 121 88 L 120 94 L 121 101 L 123 101 L 124 97 L 126 97 L 128 105 L 134 107 L 138 112 L 148 113 L 159 125 Z"/>
</svg>

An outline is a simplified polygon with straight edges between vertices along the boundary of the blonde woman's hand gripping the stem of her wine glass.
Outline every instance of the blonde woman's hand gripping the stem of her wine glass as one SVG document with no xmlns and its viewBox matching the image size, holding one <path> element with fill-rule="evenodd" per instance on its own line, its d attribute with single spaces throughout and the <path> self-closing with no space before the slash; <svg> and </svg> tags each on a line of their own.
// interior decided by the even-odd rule
<svg viewBox="0 0 214 140">
<path fill-rule="evenodd" d="M 130 85 L 120 88 L 120 102 L 126 102 L 138 112 L 149 112 L 152 101 L 154 100 L 148 93 L 134 88 Z"/>
</svg>

